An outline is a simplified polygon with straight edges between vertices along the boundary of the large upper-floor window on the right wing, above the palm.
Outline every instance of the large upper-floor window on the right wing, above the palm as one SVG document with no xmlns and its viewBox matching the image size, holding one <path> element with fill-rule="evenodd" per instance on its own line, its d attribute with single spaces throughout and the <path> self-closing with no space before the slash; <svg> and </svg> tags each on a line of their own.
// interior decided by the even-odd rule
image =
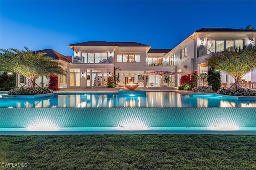
<svg viewBox="0 0 256 170">
<path fill-rule="evenodd" d="M 244 40 L 207 40 L 207 54 L 224 51 L 234 51 L 235 47 L 242 49 Z"/>
</svg>

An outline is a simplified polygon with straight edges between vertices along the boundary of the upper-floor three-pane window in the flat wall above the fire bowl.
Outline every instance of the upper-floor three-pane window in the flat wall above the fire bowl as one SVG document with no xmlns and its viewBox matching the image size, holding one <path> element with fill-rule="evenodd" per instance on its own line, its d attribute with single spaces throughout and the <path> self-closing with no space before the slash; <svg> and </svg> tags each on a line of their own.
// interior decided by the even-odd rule
<svg viewBox="0 0 256 170">
<path fill-rule="evenodd" d="M 117 63 L 139 63 L 140 53 L 116 53 Z"/>
</svg>

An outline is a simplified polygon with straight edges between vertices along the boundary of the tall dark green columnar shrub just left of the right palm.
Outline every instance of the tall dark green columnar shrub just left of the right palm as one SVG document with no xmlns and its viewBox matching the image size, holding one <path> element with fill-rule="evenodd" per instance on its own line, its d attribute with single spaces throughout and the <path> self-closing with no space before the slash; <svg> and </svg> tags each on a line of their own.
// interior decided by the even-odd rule
<svg viewBox="0 0 256 170">
<path fill-rule="evenodd" d="M 207 82 L 208 82 L 208 86 L 212 86 L 212 90 L 214 92 L 217 92 L 220 89 L 220 86 L 221 86 L 220 72 L 217 71 L 216 68 L 211 67 L 208 70 Z"/>
</svg>

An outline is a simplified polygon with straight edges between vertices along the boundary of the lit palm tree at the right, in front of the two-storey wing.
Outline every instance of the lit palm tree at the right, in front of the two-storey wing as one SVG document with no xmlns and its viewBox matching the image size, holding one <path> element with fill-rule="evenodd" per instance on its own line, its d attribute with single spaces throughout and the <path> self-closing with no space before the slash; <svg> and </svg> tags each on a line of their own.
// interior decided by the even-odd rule
<svg viewBox="0 0 256 170">
<path fill-rule="evenodd" d="M 241 78 L 256 68 L 256 49 L 244 47 L 239 51 L 236 48 L 235 52 L 223 51 L 213 54 L 206 62 L 209 66 L 230 74 L 235 79 L 232 86 L 239 89 L 242 88 Z"/>
</svg>

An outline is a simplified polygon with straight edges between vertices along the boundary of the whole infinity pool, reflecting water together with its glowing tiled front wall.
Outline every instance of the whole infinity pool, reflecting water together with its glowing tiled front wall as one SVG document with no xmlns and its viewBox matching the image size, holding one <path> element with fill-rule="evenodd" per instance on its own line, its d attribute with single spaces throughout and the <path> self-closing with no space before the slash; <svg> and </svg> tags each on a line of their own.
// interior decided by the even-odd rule
<svg viewBox="0 0 256 170">
<path fill-rule="evenodd" d="M 96 94 L 96 96 L 60 94 L 57 100 L 62 101 L 60 103 L 56 103 L 56 100 L 51 101 L 54 95 L 48 100 L 38 101 L 36 99 L 33 103 L 34 107 L 2 107 L 0 131 L 1 134 L 24 131 L 206 131 L 207 133 L 211 131 L 256 131 L 254 100 L 245 100 L 239 104 L 236 101 L 227 100 L 226 106 L 230 107 L 216 107 L 213 103 L 224 105 L 221 100 L 217 100 L 218 102 L 208 100 L 209 96 L 194 101 L 192 96 L 170 94 L 172 93 L 165 92 L 159 95 L 159 92 L 147 92 L 146 97 L 152 95 L 150 100 L 142 96 L 140 100 L 138 96 L 136 98 L 135 96 L 122 96 L 118 99 L 120 103 L 115 103 L 114 99 L 118 98 L 116 94 L 103 94 L 108 97 L 103 97 L 101 94 Z M 68 95 L 80 97 L 67 99 Z M 156 105 L 160 97 L 164 101 L 162 106 Z M 214 96 L 210 96 L 212 97 Z M 96 98 L 100 100 L 94 101 Z M 188 107 L 179 99 L 200 105 Z M 143 100 L 146 101 L 143 102 Z M 64 101 L 68 104 L 60 107 Z M 167 101 L 171 107 L 166 106 Z M 201 104 L 204 102 L 208 104 Z M 122 106 L 118 105 L 121 103 Z"/>
</svg>

